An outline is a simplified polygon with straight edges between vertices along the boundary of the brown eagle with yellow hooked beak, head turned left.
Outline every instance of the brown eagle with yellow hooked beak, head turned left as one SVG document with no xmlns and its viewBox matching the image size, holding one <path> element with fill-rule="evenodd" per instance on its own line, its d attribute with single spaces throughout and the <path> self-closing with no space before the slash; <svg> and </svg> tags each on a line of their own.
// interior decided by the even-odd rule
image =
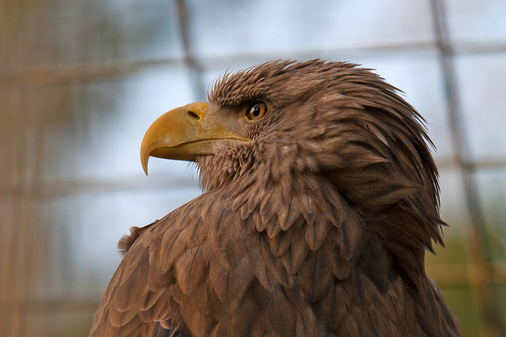
<svg viewBox="0 0 506 337">
<path fill-rule="evenodd" d="M 371 69 L 225 72 L 141 145 L 203 193 L 132 227 L 90 336 L 460 336 L 425 272 L 443 245 L 425 120 Z"/>
</svg>

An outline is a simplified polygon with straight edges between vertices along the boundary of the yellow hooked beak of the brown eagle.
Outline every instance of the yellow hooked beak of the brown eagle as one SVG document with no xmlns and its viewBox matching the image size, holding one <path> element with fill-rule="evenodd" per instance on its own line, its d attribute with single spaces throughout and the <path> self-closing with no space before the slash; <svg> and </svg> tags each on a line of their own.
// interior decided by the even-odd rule
<svg viewBox="0 0 506 337">
<path fill-rule="evenodd" d="M 149 157 L 194 161 L 198 155 L 212 154 L 217 140 L 248 141 L 236 135 L 218 113 L 209 113 L 209 104 L 198 102 L 161 115 L 149 127 L 141 144 L 141 163 L 148 174 Z"/>
</svg>

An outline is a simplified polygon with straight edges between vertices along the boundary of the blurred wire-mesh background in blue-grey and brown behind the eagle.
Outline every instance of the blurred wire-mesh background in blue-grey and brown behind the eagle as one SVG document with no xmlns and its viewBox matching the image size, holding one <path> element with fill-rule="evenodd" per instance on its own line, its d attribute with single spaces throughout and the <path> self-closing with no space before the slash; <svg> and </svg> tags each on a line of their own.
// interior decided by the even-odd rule
<svg viewBox="0 0 506 337">
<path fill-rule="evenodd" d="M 279 58 L 377 69 L 425 116 L 450 225 L 427 272 L 464 336 L 504 336 L 504 0 L 0 0 L 0 336 L 87 336 L 117 240 L 199 194 L 184 162 L 144 176 L 144 132 Z"/>
</svg>

